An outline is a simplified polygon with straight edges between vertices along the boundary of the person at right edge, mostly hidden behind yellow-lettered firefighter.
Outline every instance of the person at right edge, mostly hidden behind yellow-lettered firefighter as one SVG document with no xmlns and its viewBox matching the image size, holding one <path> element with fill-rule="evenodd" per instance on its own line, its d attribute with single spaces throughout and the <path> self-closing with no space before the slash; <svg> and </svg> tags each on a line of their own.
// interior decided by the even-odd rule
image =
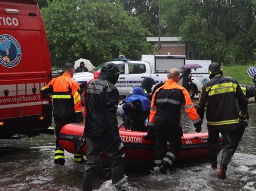
<svg viewBox="0 0 256 191">
<path fill-rule="evenodd" d="M 241 85 L 242 93 L 244 93 L 245 97 L 250 98 L 256 96 L 256 86 L 248 86 L 248 85 Z M 237 111 L 239 112 L 239 105 L 237 104 Z M 237 150 L 237 147 L 242 139 L 242 136 L 244 135 L 245 128 L 248 125 L 249 115 L 247 112 L 247 116 L 244 120 L 239 120 L 239 129 L 237 130 L 237 135 L 235 139 L 235 150 Z M 234 154 L 233 152 L 233 154 Z"/>
</svg>

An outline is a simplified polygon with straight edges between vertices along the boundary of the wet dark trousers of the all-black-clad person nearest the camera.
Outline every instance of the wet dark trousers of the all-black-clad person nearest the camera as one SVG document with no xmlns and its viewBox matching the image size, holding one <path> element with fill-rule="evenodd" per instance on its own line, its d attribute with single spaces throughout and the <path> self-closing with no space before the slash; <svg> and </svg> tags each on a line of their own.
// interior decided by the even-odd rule
<svg viewBox="0 0 256 191">
<path fill-rule="evenodd" d="M 112 160 L 111 179 L 112 184 L 124 178 L 124 145 L 122 142 L 113 144 L 113 137 L 86 137 L 86 158 L 85 172 L 83 178 L 83 190 L 92 190 L 96 168 L 99 166 L 100 157 L 103 151 Z"/>
</svg>

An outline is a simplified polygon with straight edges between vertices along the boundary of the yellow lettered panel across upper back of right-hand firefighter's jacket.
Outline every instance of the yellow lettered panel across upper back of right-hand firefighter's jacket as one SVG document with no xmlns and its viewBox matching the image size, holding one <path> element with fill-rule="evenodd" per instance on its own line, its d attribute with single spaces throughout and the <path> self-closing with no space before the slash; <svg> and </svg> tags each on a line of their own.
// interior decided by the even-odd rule
<svg viewBox="0 0 256 191">
<path fill-rule="evenodd" d="M 230 92 L 236 92 L 237 84 L 228 82 L 228 83 L 219 83 L 213 86 L 207 87 L 206 91 L 208 92 L 209 96 L 217 95 L 217 94 L 224 94 Z"/>
</svg>

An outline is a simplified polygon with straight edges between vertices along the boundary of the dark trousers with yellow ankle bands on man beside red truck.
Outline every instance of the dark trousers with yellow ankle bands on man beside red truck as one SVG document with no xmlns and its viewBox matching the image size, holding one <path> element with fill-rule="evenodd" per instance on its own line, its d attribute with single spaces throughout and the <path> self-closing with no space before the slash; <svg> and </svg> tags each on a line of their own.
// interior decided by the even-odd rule
<svg viewBox="0 0 256 191">
<path fill-rule="evenodd" d="M 55 135 L 56 135 L 56 149 L 54 153 L 54 163 L 58 165 L 65 164 L 65 156 L 64 156 L 64 149 L 59 144 L 59 131 L 62 127 L 68 123 L 75 123 L 75 117 L 66 117 L 66 118 L 54 118 L 55 122 Z M 82 162 L 83 156 L 80 154 L 74 154 L 74 158 L 76 162 Z"/>
</svg>

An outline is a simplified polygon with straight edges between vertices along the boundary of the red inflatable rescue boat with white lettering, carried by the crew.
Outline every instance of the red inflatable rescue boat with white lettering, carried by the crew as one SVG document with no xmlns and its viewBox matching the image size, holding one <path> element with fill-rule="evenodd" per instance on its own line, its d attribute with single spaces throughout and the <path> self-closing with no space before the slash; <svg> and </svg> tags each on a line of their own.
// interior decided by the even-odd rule
<svg viewBox="0 0 256 191">
<path fill-rule="evenodd" d="M 60 130 L 59 143 L 64 150 L 77 154 L 75 148 L 75 140 L 83 136 L 84 125 L 67 124 Z M 119 134 L 122 137 L 125 146 L 125 160 L 130 162 L 152 163 L 156 146 L 154 141 L 145 140 L 143 135 L 146 132 L 125 130 L 122 126 L 119 129 Z M 207 158 L 207 139 L 208 133 L 184 133 L 181 138 L 182 150 L 178 154 L 178 160 Z M 223 138 L 219 138 L 218 152 L 223 145 Z M 83 155 L 86 154 L 86 145 L 82 147 Z M 103 159 L 106 155 L 103 154 Z"/>
</svg>

